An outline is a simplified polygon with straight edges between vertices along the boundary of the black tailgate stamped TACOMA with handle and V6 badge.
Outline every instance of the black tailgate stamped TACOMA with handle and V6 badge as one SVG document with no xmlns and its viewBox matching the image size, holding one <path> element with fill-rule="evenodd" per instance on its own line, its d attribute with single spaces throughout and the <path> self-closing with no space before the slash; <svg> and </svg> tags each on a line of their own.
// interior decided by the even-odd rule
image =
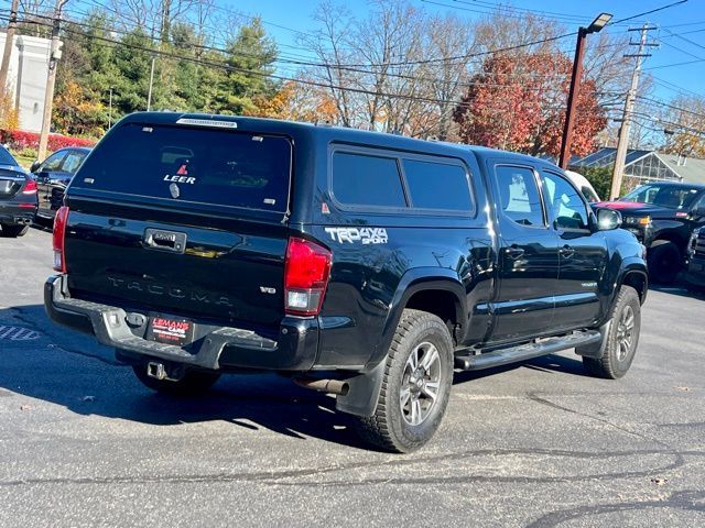
<svg viewBox="0 0 705 528">
<path fill-rule="evenodd" d="M 176 212 L 156 221 L 123 206 L 70 206 L 72 295 L 223 321 L 283 317 L 284 226 Z"/>
</svg>

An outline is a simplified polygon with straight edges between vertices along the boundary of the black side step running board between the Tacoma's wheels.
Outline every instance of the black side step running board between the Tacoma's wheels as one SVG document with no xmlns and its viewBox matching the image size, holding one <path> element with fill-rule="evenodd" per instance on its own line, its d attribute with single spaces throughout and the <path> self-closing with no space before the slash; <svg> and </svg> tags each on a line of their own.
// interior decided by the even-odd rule
<svg viewBox="0 0 705 528">
<path fill-rule="evenodd" d="M 562 350 L 596 343 L 601 339 L 597 330 L 573 332 L 567 336 L 547 338 L 535 343 L 520 344 L 508 349 L 485 352 L 484 354 L 463 354 L 455 356 L 455 367 L 463 371 L 479 371 L 506 365 L 517 361 L 531 360 L 553 354 Z"/>
</svg>

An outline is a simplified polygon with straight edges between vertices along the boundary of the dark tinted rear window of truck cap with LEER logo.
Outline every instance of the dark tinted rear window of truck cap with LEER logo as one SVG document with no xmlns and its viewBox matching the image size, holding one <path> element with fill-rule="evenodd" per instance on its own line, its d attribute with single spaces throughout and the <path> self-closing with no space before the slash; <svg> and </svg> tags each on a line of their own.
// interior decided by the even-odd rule
<svg viewBox="0 0 705 528">
<path fill-rule="evenodd" d="M 86 158 L 72 188 L 285 212 L 291 165 L 283 136 L 126 123 Z"/>
</svg>

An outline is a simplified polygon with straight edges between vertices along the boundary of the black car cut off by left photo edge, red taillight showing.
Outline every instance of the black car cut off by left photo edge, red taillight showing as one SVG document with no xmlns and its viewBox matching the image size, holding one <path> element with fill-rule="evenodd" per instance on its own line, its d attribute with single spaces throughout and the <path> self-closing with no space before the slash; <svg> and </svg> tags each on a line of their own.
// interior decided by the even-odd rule
<svg viewBox="0 0 705 528">
<path fill-rule="evenodd" d="M 0 237 L 22 237 L 36 215 L 36 183 L 0 146 Z"/>
</svg>

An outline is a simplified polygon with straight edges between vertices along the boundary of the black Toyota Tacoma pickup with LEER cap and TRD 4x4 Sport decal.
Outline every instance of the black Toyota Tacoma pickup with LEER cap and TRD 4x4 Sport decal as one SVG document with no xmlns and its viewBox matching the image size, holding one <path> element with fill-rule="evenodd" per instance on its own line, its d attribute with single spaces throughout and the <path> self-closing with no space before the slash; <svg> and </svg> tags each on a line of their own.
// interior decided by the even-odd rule
<svg viewBox="0 0 705 528">
<path fill-rule="evenodd" d="M 622 376 L 643 248 L 554 165 L 275 120 L 124 118 L 54 230 L 50 317 L 162 392 L 274 371 L 394 451 L 437 429 L 454 370 L 575 349 Z"/>
</svg>

